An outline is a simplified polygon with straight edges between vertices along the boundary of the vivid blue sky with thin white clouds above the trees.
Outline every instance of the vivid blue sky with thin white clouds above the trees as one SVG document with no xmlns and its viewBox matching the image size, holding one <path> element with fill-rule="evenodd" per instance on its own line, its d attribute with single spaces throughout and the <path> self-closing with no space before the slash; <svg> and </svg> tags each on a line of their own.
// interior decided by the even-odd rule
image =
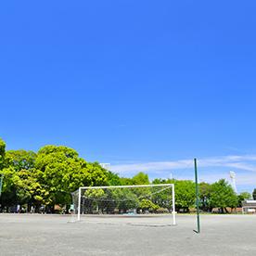
<svg viewBox="0 0 256 256">
<path fill-rule="evenodd" d="M 6 150 L 63 145 L 122 176 L 256 187 L 255 1 L 9 1 Z"/>
</svg>

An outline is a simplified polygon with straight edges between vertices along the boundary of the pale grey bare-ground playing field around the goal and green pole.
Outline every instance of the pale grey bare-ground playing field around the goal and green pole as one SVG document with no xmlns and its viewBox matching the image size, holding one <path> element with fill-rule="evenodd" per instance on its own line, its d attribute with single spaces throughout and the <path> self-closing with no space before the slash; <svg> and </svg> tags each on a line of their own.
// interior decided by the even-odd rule
<svg viewBox="0 0 256 256">
<path fill-rule="evenodd" d="M 174 226 L 0 213 L 0 255 L 255 255 L 256 214 L 177 215 Z M 152 220 L 153 221 L 153 220 Z M 147 220 L 148 222 L 148 220 Z"/>
</svg>

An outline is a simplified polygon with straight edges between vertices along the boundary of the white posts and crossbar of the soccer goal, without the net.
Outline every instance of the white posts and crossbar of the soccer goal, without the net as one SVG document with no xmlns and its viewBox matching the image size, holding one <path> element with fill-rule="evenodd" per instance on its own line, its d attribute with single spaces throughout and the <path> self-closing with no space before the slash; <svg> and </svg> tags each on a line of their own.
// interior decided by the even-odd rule
<svg viewBox="0 0 256 256">
<path fill-rule="evenodd" d="M 78 218 L 77 220 L 80 221 L 81 215 L 81 190 L 82 189 L 96 189 L 96 188 L 128 188 L 128 187 L 151 187 L 151 186 L 172 186 L 172 193 L 173 193 L 173 224 L 176 224 L 175 220 L 175 194 L 174 194 L 174 185 L 173 184 L 155 184 L 155 185 L 134 185 L 134 186 L 80 186 L 79 193 L 78 193 Z"/>
</svg>

